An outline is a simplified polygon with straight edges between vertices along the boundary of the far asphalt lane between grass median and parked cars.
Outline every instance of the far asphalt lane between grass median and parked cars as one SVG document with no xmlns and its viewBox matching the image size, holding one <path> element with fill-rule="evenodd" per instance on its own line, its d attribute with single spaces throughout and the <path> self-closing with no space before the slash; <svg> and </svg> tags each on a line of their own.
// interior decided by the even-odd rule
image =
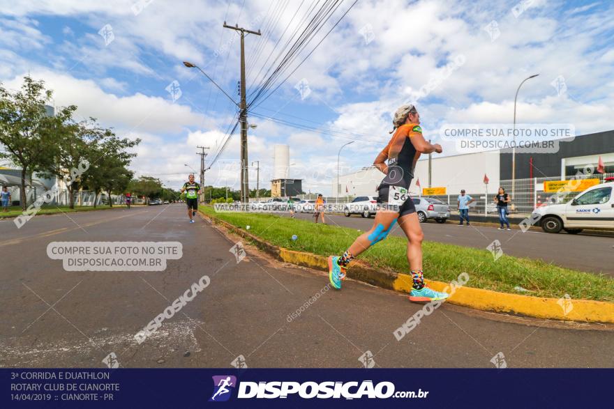
<svg viewBox="0 0 614 409">
<path fill-rule="evenodd" d="M 313 220 L 311 213 L 297 213 L 301 219 Z M 327 223 L 366 231 L 373 225 L 373 218 L 359 215 L 351 217 L 326 215 Z M 516 257 L 539 258 L 548 263 L 586 272 L 604 273 L 614 277 L 614 238 L 550 234 L 520 229 L 497 230 L 497 226 L 458 226 L 456 222 L 438 224 L 433 220 L 421 224 L 424 239 L 452 245 L 486 249 L 493 240 L 501 242 L 504 254 Z M 395 226 L 391 234 L 404 236 Z"/>
</svg>

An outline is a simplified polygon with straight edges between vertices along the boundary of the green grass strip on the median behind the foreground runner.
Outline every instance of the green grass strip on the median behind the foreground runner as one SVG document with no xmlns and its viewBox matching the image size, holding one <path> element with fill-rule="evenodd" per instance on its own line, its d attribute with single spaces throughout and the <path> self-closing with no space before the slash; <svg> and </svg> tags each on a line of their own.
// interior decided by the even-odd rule
<svg viewBox="0 0 614 409">
<path fill-rule="evenodd" d="M 355 229 L 315 224 L 262 213 L 216 213 L 211 206 L 200 206 L 210 216 L 246 229 L 279 247 L 329 256 L 341 254 L 361 233 Z M 298 240 L 292 240 L 296 234 Z M 360 261 L 374 268 L 407 273 L 405 256 L 407 240 L 389 236 L 359 256 Z M 525 295 L 614 301 L 614 280 L 604 275 L 562 268 L 532 258 L 503 255 L 494 261 L 486 249 L 474 249 L 440 242 L 424 241 L 424 275 L 428 279 L 451 281 L 467 272 L 467 286 L 505 293 L 518 293 L 515 286 L 530 290 Z M 350 267 L 351 268 L 351 267 Z"/>
</svg>

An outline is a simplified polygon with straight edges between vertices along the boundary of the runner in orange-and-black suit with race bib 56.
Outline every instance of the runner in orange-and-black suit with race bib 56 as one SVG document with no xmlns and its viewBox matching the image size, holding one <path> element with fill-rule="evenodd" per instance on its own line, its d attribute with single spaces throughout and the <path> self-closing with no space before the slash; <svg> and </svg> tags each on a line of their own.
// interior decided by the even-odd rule
<svg viewBox="0 0 614 409">
<path fill-rule="evenodd" d="M 371 245 L 384 240 L 397 222 L 407 236 L 407 261 L 412 275 L 410 301 L 430 302 L 448 298 L 428 288 L 422 277 L 422 239 L 424 233 L 418 220 L 414 201 L 407 193 L 414 177 L 414 167 L 422 153 L 442 153 L 440 144 L 430 144 L 422 136 L 420 115 L 413 105 L 403 105 L 394 114 L 394 135 L 384 150 L 377 155 L 373 165 L 384 173 L 384 179 L 377 187 L 378 210 L 373 227 L 354 240 L 343 256 L 330 256 L 329 280 L 334 288 L 340 290 L 341 280 L 345 277 L 347 265 Z M 390 132 L 392 133 L 392 132 Z M 388 161 L 388 164 L 386 164 Z"/>
</svg>

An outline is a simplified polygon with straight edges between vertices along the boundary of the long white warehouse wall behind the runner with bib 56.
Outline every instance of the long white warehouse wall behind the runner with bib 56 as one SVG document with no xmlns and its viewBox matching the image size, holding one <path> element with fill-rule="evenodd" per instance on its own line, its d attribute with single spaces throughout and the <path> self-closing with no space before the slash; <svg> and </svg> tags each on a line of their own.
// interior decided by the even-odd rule
<svg viewBox="0 0 614 409">
<path fill-rule="evenodd" d="M 467 193 L 482 193 L 484 187 L 484 173 L 490 179 L 488 191 L 495 192 L 499 187 L 499 151 L 489 151 L 480 153 L 470 153 L 467 155 L 455 155 L 437 157 L 433 154 L 432 160 L 432 187 L 446 187 L 450 195 L 458 195 L 461 189 Z M 365 171 L 350 173 L 339 176 L 340 190 L 337 192 L 336 179 L 332 183 L 332 194 L 340 196 L 350 194 L 352 196 L 373 195 L 375 187 L 384 178 L 384 173 L 375 168 Z M 428 187 L 428 155 L 422 155 L 414 169 L 414 180 L 410 192 L 414 195 L 419 194 L 416 187 L 417 179 L 420 180 L 421 187 Z M 349 192 L 345 192 L 345 189 Z"/>
</svg>

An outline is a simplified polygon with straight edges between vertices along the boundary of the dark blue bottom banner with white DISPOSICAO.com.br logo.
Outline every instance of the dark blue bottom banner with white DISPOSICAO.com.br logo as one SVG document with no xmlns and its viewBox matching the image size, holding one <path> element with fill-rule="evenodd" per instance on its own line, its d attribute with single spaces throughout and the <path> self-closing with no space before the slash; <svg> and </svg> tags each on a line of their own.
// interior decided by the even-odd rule
<svg viewBox="0 0 614 409">
<path fill-rule="evenodd" d="M 613 369 L 1 369 L 2 408 L 567 408 Z M 608 407 L 611 404 L 607 405 Z"/>
</svg>

